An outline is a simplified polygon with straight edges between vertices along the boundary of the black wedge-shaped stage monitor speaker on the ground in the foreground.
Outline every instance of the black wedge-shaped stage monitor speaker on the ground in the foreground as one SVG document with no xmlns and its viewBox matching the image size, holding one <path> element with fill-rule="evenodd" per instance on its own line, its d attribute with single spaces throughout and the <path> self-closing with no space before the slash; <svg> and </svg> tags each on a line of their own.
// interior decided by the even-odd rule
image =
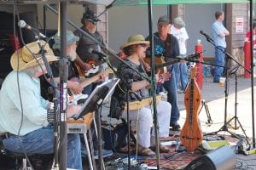
<svg viewBox="0 0 256 170">
<path fill-rule="evenodd" d="M 191 161 L 185 170 L 234 170 L 235 166 L 235 151 L 224 145 Z"/>
</svg>

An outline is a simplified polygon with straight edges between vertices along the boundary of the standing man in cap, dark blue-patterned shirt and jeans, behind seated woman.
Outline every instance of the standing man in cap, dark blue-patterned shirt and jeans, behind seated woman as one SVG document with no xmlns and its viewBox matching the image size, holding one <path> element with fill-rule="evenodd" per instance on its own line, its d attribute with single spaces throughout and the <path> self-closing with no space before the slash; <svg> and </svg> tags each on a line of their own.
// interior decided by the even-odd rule
<svg viewBox="0 0 256 170">
<path fill-rule="evenodd" d="M 170 31 L 170 20 L 165 16 L 161 16 L 158 20 L 158 31 L 154 33 L 154 52 L 155 56 L 162 54 L 166 61 L 172 61 L 173 57 L 179 55 L 179 46 L 177 38 Z M 147 37 L 146 39 L 149 39 Z M 143 65 L 150 67 L 147 63 L 143 62 Z M 180 129 L 180 125 L 177 123 L 179 119 L 179 111 L 177 107 L 177 84 L 175 78 L 175 71 L 173 65 L 167 67 L 171 73 L 171 77 L 168 81 L 163 83 L 163 87 L 167 91 L 167 101 L 172 105 L 170 126 L 172 130 L 177 131 Z"/>
</svg>

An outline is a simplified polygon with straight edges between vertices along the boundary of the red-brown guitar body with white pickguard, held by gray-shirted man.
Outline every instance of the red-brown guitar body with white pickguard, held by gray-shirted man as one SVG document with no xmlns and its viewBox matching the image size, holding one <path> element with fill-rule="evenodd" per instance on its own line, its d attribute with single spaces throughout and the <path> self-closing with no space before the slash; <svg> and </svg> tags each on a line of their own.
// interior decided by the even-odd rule
<svg viewBox="0 0 256 170">
<path fill-rule="evenodd" d="M 75 63 L 75 66 L 79 73 L 79 77 L 89 77 L 91 74 L 96 74 L 100 71 L 100 65 L 105 62 L 102 60 L 97 61 L 96 59 L 87 59 L 85 63 L 91 65 L 92 68 L 89 71 L 83 71 L 80 65 Z"/>
</svg>

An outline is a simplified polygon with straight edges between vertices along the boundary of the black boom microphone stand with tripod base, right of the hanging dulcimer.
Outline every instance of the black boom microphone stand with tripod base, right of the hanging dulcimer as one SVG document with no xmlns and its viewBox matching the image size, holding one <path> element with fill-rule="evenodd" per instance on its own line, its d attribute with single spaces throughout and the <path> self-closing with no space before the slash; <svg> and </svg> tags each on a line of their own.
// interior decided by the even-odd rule
<svg viewBox="0 0 256 170">
<path fill-rule="evenodd" d="M 219 48 L 215 42 L 213 42 L 211 37 L 207 37 L 207 42 L 212 43 L 212 45 L 215 48 L 218 48 L 219 51 L 221 51 L 223 54 L 225 54 L 225 68 L 228 68 L 228 61 L 229 59 L 232 59 L 233 61 L 236 62 L 237 65 L 240 65 L 242 68 L 244 68 L 246 71 L 248 71 L 251 74 L 251 71 L 249 71 L 247 68 L 245 68 L 243 65 L 241 65 L 236 59 L 234 59 L 230 54 L 228 54 L 227 52 L 225 52 L 224 50 L 222 50 L 221 48 Z M 205 135 L 210 135 L 210 134 L 216 134 L 219 132 L 227 132 L 230 133 L 231 135 L 235 136 L 237 139 L 241 139 L 240 136 L 238 136 L 236 133 L 232 133 L 229 130 L 229 127 L 227 126 L 227 112 L 228 112 L 228 98 L 229 98 L 229 77 L 228 77 L 228 69 L 225 69 L 225 89 L 224 89 L 224 94 L 225 94 L 225 105 L 224 105 L 224 125 L 222 127 L 219 128 L 218 131 L 216 132 L 212 132 L 212 133 L 207 133 Z"/>
</svg>

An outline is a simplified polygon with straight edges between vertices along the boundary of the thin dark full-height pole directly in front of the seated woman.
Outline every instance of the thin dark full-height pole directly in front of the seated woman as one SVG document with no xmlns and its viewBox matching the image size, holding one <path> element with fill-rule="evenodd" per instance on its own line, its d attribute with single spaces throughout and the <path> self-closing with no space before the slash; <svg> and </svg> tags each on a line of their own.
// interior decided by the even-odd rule
<svg viewBox="0 0 256 170">
<path fill-rule="evenodd" d="M 149 27 L 149 42 L 150 42 L 150 64 L 151 64 L 151 91 L 153 98 L 153 111 L 154 111 L 154 139 L 155 139 L 155 156 L 157 161 L 157 169 L 160 170 L 160 150 L 159 150 L 159 139 L 158 139 L 158 120 L 157 120 L 157 111 L 156 111 L 156 99 L 155 99 L 155 65 L 154 65 L 154 33 L 153 33 L 153 22 L 152 22 L 152 0 L 148 0 L 148 27 Z"/>
</svg>

